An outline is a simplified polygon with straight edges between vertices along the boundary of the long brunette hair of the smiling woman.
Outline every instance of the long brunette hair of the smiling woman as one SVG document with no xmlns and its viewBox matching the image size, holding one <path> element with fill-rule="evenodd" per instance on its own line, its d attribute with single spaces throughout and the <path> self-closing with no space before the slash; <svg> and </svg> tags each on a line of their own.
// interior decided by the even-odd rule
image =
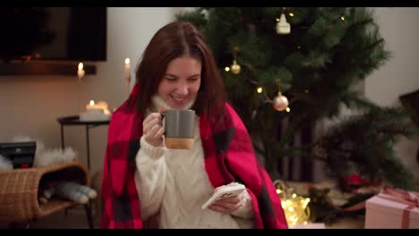
<svg viewBox="0 0 419 236">
<path fill-rule="evenodd" d="M 138 66 L 138 107 L 142 114 L 149 107 L 151 97 L 157 92 L 167 64 L 184 55 L 192 56 L 202 64 L 201 87 L 192 109 L 197 114 L 206 114 L 209 117 L 224 111 L 227 95 L 209 46 L 191 22 L 175 21 L 158 30 L 151 38 Z"/>
</svg>

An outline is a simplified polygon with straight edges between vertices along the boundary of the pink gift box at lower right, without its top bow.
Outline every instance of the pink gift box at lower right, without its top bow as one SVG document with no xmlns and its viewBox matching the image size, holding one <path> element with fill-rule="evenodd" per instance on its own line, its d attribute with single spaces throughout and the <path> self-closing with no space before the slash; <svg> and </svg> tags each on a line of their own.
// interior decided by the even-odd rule
<svg viewBox="0 0 419 236">
<path fill-rule="evenodd" d="M 365 203 L 365 229 L 419 229 L 419 207 L 380 193 Z"/>
</svg>

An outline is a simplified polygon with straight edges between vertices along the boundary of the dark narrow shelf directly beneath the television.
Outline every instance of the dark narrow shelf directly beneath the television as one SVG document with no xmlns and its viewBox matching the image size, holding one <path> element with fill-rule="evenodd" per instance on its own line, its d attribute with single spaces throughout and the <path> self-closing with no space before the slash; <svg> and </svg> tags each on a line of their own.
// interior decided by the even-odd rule
<svg viewBox="0 0 419 236">
<path fill-rule="evenodd" d="M 0 76 L 4 75 L 64 75 L 77 76 L 79 63 L 0 63 Z M 85 75 L 96 74 L 96 65 L 84 64 Z"/>
</svg>

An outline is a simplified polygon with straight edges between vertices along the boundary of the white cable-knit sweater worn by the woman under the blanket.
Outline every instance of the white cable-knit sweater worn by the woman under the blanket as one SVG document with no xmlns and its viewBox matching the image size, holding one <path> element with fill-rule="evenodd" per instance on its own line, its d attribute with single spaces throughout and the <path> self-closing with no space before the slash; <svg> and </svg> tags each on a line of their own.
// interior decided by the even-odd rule
<svg viewBox="0 0 419 236">
<path fill-rule="evenodd" d="M 160 97 L 152 98 L 151 110 L 166 105 Z M 189 108 L 192 105 L 188 105 Z M 166 107 L 168 107 L 166 105 Z M 144 118 L 150 114 L 150 110 Z M 202 204 L 210 198 L 214 188 L 204 169 L 204 154 L 195 119 L 192 149 L 154 147 L 141 137 L 141 148 L 136 156 L 135 184 L 141 203 L 141 217 L 157 217 L 159 228 L 252 228 L 252 198 L 246 192 L 246 204 L 227 215 Z"/>
</svg>

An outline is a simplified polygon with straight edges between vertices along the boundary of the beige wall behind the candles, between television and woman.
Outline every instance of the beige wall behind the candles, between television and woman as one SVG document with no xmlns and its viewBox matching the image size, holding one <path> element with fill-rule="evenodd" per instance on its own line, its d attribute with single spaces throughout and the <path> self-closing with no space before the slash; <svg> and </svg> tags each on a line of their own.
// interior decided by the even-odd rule
<svg viewBox="0 0 419 236">
<path fill-rule="evenodd" d="M 79 114 L 82 105 L 104 100 L 113 109 L 124 102 L 124 58 L 130 57 L 132 71 L 152 34 L 174 19 L 170 7 L 109 7 L 107 9 L 107 62 L 95 63 L 96 75 L 82 83 L 74 76 L 1 76 L 0 142 L 30 136 L 47 148 L 61 147 L 57 117 Z M 64 139 L 81 160 L 86 161 L 86 131 L 82 126 L 66 126 Z M 93 172 L 102 168 L 107 142 L 107 126 L 90 129 L 90 164 Z"/>
</svg>

